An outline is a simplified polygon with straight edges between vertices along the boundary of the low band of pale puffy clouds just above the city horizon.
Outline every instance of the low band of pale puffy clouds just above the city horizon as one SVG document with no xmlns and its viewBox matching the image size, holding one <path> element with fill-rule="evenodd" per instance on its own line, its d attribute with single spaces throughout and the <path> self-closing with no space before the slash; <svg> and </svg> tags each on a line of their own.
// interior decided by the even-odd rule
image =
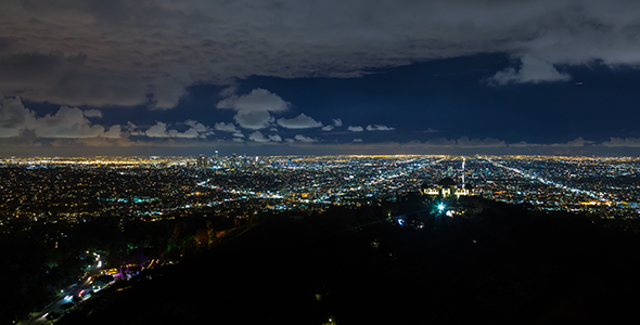
<svg viewBox="0 0 640 325">
<path fill-rule="evenodd" d="M 272 93 L 265 94 L 274 95 Z M 240 99 L 240 98 L 239 98 Z M 279 98 L 278 98 L 279 99 Z M 267 101 L 269 102 L 269 101 Z M 272 101 L 280 103 L 279 101 Z M 249 105 L 251 106 L 251 105 Z M 235 105 L 231 108 L 236 107 Z M 240 106 L 242 107 L 242 106 Z M 246 108 L 251 112 L 271 112 L 283 108 L 273 108 L 282 106 L 267 105 L 267 108 L 256 108 L 258 106 L 251 106 Z M 347 134 L 367 134 L 367 131 L 391 131 L 394 128 L 382 125 L 369 125 L 367 128 L 349 126 L 346 128 L 347 132 L 336 132 L 333 135 L 344 135 L 345 140 L 342 142 L 334 142 L 333 136 L 328 133 L 318 133 L 318 135 L 289 133 L 279 134 L 277 128 L 266 130 L 253 130 L 248 135 L 245 135 L 233 123 L 216 122 L 214 127 L 206 126 L 193 119 L 187 119 L 184 122 L 163 122 L 155 121 L 152 126 L 139 127 L 132 122 L 127 125 L 112 125 L 103 126 L 92 121 L 91 119 L 100 121 L 103 116 L 102 110 L 98 109 L 80 109 L 77 107 L 61 106 L 56 112 L 49 113 L 43 116 L 38 116 L 34 110 L 25 107 L 20 98 L 7 98 L 0 104 L 0 146 L 7 147 L 234 147 L 246 148 L 246 146 L 269 145 L 271 147 L 316 147 L 320 151 L 331 147 L 336 152 L 354 151 L 367 153 L 413 153 L 427 154 L 430 151 L 464 151 L 464 150 L 481 150 L 483 152 L 513 153 L 513 151 L 536 150 L 539 153 L 562 153 L 568 151 L 579 151 L 581 154 L 588 154 L 597 151 L 610 151 L 615 148 L 637 150 L 640 148 L 640 139 L 638 138 L 610 138 L 606 141 L 591 141 L 581 136 L 564 143 L 508 143 L 504 140 L 494 138 L 469 138 L 461 136 L 459 139 L 450 138 L 431 138 L 426 141 L 409 141 L 404 143 L 391 141 L 363 141 L 361 138 L 350 138 Z M 291 122 L 290 126 L 313 126 L 318 128 L 321 125 L 312 118 L 300 114 L 295 118 L 284 119 Z M 282 125 L 282 123 L 281 123 Z M 334 120 L 333 126 L 342 127 L 342 121 Z M 332 127 L 333 127 L 332 126 Z M 284 127 L 284 126 L 283 126 Z M 215 133 L 214 130 L 219 131 Z M 266 133 L 269 132 L 269 133 Z M 291 132 L 291 131 L 289 131 Z M 220 134 L 221 133 L 221 134 Z M 285 132 L 286 133 L 286 132 Z M 383 132 L 380 132 L 383 133 Z M 379 134 L 380 134 L 379 133 Z M 231 134 L 230 138 L 227 135 Z M 371 133 L 372 134 L 372 133 Z M 423 152 L 424 151 L 424 152 Z M 560 151 L 560 152 L 559 152 Z M 610 152 L 606 152 L 610 153 Z"/>
</svg>

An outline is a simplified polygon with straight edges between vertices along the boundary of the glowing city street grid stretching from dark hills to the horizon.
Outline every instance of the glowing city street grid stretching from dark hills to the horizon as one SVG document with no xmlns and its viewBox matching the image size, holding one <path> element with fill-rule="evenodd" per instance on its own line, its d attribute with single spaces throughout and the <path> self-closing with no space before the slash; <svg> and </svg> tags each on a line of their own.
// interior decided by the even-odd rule
<svg viewBox="0 0 640 325">
<path fill-rule="evenodd" d="M 639 158 L 554 156 L 228 156 L 5 158 L 0 225 L 104 213 L 322 210 L 395 200 L 451 178 L 532 209 L 640 217 Z M 240 216 L 242 217 L 242 216 Z M 245 216 L 246 217 L 246 216 Z"/>
</svg>

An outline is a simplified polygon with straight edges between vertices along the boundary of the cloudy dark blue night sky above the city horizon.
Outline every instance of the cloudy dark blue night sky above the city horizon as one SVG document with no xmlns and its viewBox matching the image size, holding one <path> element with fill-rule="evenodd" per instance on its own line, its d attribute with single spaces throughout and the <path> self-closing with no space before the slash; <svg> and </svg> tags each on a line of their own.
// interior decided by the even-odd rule
<svg viewBox="0 0 640 325">
<path fill-rule="evenodd" d="M 0 156 L 640 155 L 640 1 L 0 2 Z"/>
</svg>

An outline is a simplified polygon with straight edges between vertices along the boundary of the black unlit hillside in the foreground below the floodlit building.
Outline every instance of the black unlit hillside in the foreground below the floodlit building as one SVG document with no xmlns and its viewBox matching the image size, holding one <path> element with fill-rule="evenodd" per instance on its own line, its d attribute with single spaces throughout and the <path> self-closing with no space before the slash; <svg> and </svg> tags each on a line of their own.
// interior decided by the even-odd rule
<svg viewBox="0 0 640 325">
<path fill-rule="evenodd" d="M 385 220 L 383 208 L 272 217 L 116 284 L 57 323 L 638 324 L 636 233 L 466 204 L 464 217 L 412 214 L 421 229 Z M 428 208 L 406 205 L 395 208 Z"/>
</svg>

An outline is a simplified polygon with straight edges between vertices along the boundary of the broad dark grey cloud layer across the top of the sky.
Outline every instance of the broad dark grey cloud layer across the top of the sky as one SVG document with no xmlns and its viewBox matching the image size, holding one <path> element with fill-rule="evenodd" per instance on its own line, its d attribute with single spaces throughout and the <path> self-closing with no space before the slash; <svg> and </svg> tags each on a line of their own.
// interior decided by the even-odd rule
<svg viewBox="0 0 640 325">
<path fill-rule="evenodd" d="M 69 106 L 169 108 L 194 83 L 355 77 L 486 52 L 513 58 L 492 84 L 640 64 L 635 0 L 7 0 L 0 12 L 0 93 Z M 254 129 L 269 121 L 245 113 Z"/>
</svg>

